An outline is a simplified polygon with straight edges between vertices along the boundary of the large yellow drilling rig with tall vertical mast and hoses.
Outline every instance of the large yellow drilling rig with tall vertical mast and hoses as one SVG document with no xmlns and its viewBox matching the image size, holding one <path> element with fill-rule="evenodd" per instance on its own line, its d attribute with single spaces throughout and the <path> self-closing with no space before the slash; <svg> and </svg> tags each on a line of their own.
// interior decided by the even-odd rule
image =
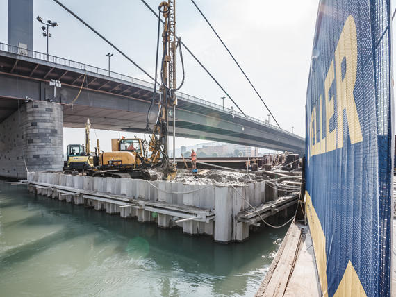
<svg viewBox="0 0 396 297">
<path fill-rule="evenodd" d="M 140 138 L 112 139 L 111 152 L 99 152 L 99 166 L 92 169 L 92 176 L 115 177 L 115 178 L 143 178 L 155 180 L 155 169 L 163 173 L 165 179 L 170 180 L 176 176 L 176 162 L 170 162 L 168 151 L 168 111 L 173 117 L 173 137 L 175 139 L 175 107 L 177 105 L 176 90 L 179 90 L 184 81 L 183 56 L 183 81 L 176 87 L 176 49 L 181 46 L 180 40 L 176 40 L 174 0 L 163 1 L 158 7 L 158 18 L 163 15 L 163 57 L 160 71 L 160 99 L 158 103 L 158 116 L 156 124 L 149 128 L 149 114 L 156 96 L 156 76 L 151 105 L 147 112 L 146 132 L 151 134 L 149 142 Z M 159 22 L 158 22 L 159 27 Z M 159 41 L 158 34 L 158 41 Z M 158 42 L 157 42 L 158 44 Z M 179 48 L 181 54 L 181 48 Z M 157 48 L 158 52 L 158 48 Z M 158 56 L 157 56 L 158 59 Z M 157 73 L 157 69 L 156 69 Z M 170 110 L 172 108 L 172 110 Z M 154 174 L 153 174 L 154 173 Z"/>
</svg>

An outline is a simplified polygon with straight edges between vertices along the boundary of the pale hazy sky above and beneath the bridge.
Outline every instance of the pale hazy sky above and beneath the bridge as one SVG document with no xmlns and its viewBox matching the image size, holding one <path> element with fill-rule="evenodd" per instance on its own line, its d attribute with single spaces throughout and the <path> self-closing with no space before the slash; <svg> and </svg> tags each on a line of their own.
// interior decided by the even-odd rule
<svg viewBox="0 0 396 297">
<path fill-rule="evenodd" d="M 140 0 L 61 1 L 154 75 L 156 18 Z M 160 0 L 147 2 L 157 10 Z M 306 85 L 318 1 L 196 0 L 196 3 L 245 69 L 281 128 L 291 130 L 294 126 L 294 132 L 304 136 Z M 50 30 L 53 36 L 49 43 L 50 54 L 106 69 L 105 54 L 110 51 L 114 53 L 112 71 L 149 81 L 131 62 L 52 0 L 34 0 L 34 16 L 37 15 L 59 24 Z M 40 26 L 34 21 L 33 44 L 35 51 L 45 52 Z M 7 43 L 7 0 L 0 0 L 0 28 L 0 42 Z M 267 119 L 263 103 L 190 0 L 176 1 L 176 33 L 246 114 Z M 222 104 L 222 90 L 187 52 L 183 53 L 183 58 L 186 76 L 181 92 Z M 231 107 L 231 102 L 226 100 L 225 105 Z M 64 132 L 65 145 L 83 143 L 83 131 L 65 128 Z M 110 148 L 108 139 L 117 137 L 118 133 L 98 132 L 97 135 L 102 147 Z M 177 139 L 176 147 L 201 142 Z"/>
</svg>

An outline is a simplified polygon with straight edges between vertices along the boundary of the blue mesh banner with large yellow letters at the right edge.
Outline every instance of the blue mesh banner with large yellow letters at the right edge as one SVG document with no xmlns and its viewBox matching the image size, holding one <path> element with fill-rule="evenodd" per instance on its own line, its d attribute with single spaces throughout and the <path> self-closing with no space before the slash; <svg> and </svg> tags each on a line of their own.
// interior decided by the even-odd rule
<svg viewBox="0 0 396 297">
<path fill-rule="evenodd" d="M 390 1 L 320 1 L 306 97 L 306 214 L 324 296 L 390 296 Z"/>
</svg>

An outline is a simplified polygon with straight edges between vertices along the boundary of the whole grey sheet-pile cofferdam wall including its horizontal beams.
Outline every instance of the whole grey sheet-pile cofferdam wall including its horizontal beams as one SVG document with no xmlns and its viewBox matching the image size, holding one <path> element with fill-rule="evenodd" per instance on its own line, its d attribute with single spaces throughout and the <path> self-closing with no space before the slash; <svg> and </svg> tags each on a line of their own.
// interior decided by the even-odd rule
<svg viewBox="0 0 396 297">
<path fill-rule="evenodd" d="M 220 243 L 249 238 L 249 227 L 257 226 L 254 217 L 249 217 L 251 205 L 263 214 L 272 207 L 269 213 L 274 216 L 277 207 L 281 209 L 277 203 L 267 205 L 263 180 L 227 185 L 29 172 L 26 183 L 35 194 L 156 223 L 159 228 L 179 227 L 188 235 L 209 235 Z M 283 197 L 279 201 L 285 203 Z M 242 221 L 242 212 L 248 215 L 247 221 Z"/>
</svg>

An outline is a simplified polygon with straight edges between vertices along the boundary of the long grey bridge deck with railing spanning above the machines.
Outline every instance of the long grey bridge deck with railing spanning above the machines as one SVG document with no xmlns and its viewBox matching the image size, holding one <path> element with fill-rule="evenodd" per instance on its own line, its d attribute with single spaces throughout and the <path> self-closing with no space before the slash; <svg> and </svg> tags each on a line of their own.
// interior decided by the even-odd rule
<svg viewBox="0 0 396 297">
<path fill-rule="evenodd" d="M 26 101 L 33 101 L 58 103 L 64 127 L 83 128 L 89 117 L 92 127 L 97 129 L 137 133 L 145 130 L 153 83 L 3 43 L 0 76 L 1 123 Z M 49 85 L 51 79 L 62 83 L 56 94 Z M 195 96 L 182 92 L 176 96 L 176 136 L 299 154 L 304 151 L 304 138 L 298 135 Z M 158 99 L 156 94 L 155 101 Z M 150 113 L 151 127 L 157 112 L 155 104 Z"/>
</svg>

